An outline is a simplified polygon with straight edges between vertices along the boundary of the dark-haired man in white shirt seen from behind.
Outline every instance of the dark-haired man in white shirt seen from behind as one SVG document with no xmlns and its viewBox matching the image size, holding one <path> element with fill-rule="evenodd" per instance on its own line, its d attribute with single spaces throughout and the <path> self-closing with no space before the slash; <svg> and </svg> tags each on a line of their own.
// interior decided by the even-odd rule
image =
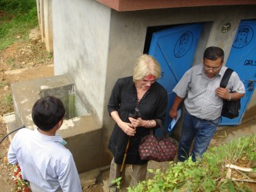
<svg viewBox="0 0 256 192">
<path fill-rule="evenodd" d="M 58 98 L 48 96 L 35 102 L 32 119 L 35 131 L 19 130 L 8 150 L 8 162 L 19 164 L 22 178 L 32 191 L 81 191 L 72 154 L 56 131 L 62 126 L 65 108 Z"/>
</svg>

